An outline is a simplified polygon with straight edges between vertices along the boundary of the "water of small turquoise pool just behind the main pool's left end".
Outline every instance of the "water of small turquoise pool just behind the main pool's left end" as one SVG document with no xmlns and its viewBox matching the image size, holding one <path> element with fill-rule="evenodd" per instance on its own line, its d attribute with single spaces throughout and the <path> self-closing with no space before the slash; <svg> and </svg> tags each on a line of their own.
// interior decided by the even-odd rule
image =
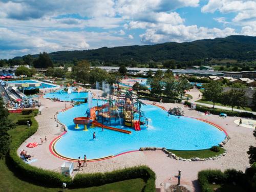
<svg viewBox="0 0 256 192">
<path fill-rule="evenodd" d="M 58 98 L 61 101 L 71 101 L 72 99 L 74 101 L 84 101 L 84 98 L 88 97 L 88 92 L 72 92 L 71 94 L 68 94 L 65 91 L 58 91 L 54 93 L 47 93 L 44 95 L 44 98 Z"/>
</svg>

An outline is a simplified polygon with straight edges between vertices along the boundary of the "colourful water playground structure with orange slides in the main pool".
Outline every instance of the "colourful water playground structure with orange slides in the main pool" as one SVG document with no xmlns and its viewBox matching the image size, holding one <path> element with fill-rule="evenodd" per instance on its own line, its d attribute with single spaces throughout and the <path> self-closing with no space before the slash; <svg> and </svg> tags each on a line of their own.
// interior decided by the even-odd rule
<svg viewBox="0 0 256 192">
<path fill-rule="evenodd" d="M 103 129 L 118 131 L 125 134 L 131 134 L 131 131 L 118 129 L 111 127 L 111 121 L 113 119 L 119 119 L 127 127 L 134 127 L 135 131 L 141 130 L 141 125 L 147 125 L 147 118 L 145 117 L 144 111 L 141 111 L 141 105 L 145 105 L 136 98 L 133 98 L 132 92 L 126 92 L 126 94 L 116 94 L 116 99 L 111 99 L 111 96 L 106 103 L 101 100 L 102 104 L 87 109 L 87 117 L 75 117 L 73 119 L 76 124 L 75 128 L 79 128 L 79 124 L 84 126 L 83 131 L 87 130 L 87 125 L 91 124 L 90 127 L 102 127 Z M 92 101 L 91 93 L 88 94 L 88 103 Z M 104 124 L 105 123 L 105 124 Z"/>
</svg>

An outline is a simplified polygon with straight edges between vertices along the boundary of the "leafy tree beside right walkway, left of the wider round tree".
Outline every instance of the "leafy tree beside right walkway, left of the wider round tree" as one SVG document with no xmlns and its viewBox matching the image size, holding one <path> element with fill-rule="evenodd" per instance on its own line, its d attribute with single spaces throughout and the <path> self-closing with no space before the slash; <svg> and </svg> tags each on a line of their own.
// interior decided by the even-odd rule
<svg viewBox="0 0 256 192">
<path fill-rule="evenodd" d="M 220 100 L 222 94 L 222 84 L 219 81 L 211 81 L 210 83 L 204 84 L 203 96 L 208 100 L 215 103 Z"/>
</svg>

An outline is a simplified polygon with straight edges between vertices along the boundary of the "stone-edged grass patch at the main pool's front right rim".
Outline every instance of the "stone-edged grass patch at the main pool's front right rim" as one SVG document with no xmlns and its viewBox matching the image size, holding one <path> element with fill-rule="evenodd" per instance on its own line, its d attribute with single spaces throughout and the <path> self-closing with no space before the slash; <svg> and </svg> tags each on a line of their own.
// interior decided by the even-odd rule
<svg viewBox="0 0 256 192">
<path fill-rule="evenodd" d="M 199 158 L 208 158 L 213 157 L 216 155 L 220 155 L 225 152 L 223 148 L 220 147 L 219 152 L 212 152 L 210 150 L 198 150 L 198 151 L 175 151 L 175 150 L 168 150 L 169 152 L 174 153 L 178 157 L 182 157 L 184 159 L 190 159 L 193 157 L 199 157 Z"/>
</svg>

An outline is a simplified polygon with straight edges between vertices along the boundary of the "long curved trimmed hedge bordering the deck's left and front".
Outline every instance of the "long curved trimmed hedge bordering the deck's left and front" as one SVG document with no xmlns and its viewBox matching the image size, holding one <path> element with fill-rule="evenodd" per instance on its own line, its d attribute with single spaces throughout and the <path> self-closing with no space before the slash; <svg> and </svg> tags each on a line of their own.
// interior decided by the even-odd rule
<svg viewBox="0 0 256 192">
<path fill-rule="evenodd" d="M 18 122 L 21 124 L 27 124 L 26 120 L 28 120 L 28 118 L 20 119 L 18 120 Z M 9 155 L 7 156 L 8 162 L 13 168 L 13 170 L 17 173 L 22 173 L 24 179 L 35 184 L 43 184 L 51 187 L 60 187 L 63 182 L 66 182 L 68 187 L 78 188 L 99 186 L 117 181 L 142 178 L 146 182 L 143 191 L 155 191 L 155 173 L 146 166 L 125 168 L 104 174 L 77 174 L 74 180 L 72 180 L 70 177 L 65 177 L 60 173 L 56 173 L 51 170 L 37 168 L 34 166 L 30 166 L 29 164 L 26 164 L 17 155 L 17 149 L 27 138 L 32 136 L 37 131 L 38 124 L 34 117 L 32 116 L 29 119 L 29 121 L 31 122 L 31 127 L 29 129 L 20 132 L 19 135 L 17 135 L 16 137 L 12 137 Z"/>
</svg>

